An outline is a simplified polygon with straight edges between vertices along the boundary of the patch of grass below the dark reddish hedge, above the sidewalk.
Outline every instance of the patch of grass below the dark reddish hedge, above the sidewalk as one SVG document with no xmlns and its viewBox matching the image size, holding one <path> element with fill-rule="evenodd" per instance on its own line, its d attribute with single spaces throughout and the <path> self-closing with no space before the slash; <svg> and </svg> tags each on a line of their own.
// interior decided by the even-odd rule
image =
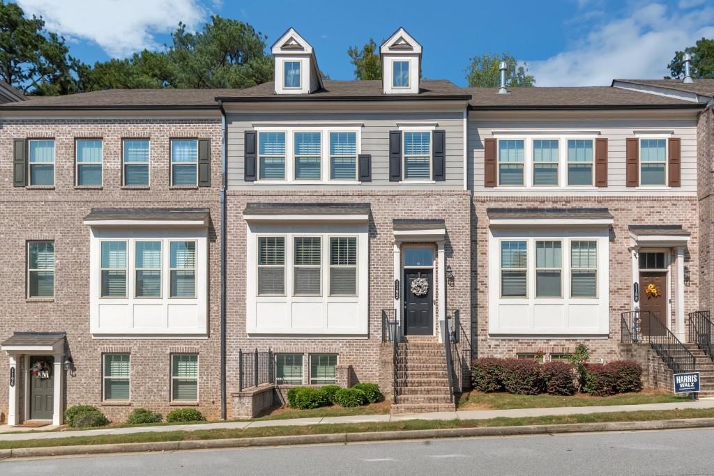
<svg viewBox="0 0 714 476">
<path fill-rule="evenodd" d="M 596 407 L 599 405 L 641 405 L 644 403 L 685 402 L 689 397 L 657 390 L 643 390 L 639 393 L 621 393 L 609 397 L 593 397 L 578 394 L 560 395 L 514 395 L 513 393 L 464 394 L 458 402 L 459 410 L 510 410 L 512 408 L 548 407 Z"/>
</svg>

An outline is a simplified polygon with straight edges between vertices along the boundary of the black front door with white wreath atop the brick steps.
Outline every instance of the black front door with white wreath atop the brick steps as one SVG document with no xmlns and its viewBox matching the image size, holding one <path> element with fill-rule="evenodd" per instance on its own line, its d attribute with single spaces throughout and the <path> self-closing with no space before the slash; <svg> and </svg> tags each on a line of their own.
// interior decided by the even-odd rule
<svg viewBox="0 0 714 476">
<path fill-rule="evenodd" d="M 432 269 L 404 270 L 404 335 L 433 335 L 434 333 L 434 272 Z M 414 293 L 411 285 L 414 280 L 426 280 L 426 294 L 423 290 Z"/>
</svg>

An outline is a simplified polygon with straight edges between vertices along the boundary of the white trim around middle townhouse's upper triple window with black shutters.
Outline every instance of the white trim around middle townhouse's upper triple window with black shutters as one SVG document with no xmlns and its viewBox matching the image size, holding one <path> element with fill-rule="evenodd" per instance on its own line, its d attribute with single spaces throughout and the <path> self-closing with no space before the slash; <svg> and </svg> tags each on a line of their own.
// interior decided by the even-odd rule
<svg viewBox="0 0 714 476">
<path fill-rule="evenodd" d="M 341 126 L 336 123 L 329 126 L 314 125 L 308 123 L 294 126 L 280 124 L 277 126 L 258 126 L 254 127 L 258 133 L 258 150 L 256 151 L 256 181 L 252 182 L 255 186 L 261 185 L 285 185 L 286 183 L 294 185 L 360 185 L 359 181 L 359 155 L 362 153 L 362 126 L 351 123 L 346 126 Z M 282 132 L 285 134 L 285 178 L 283 179 L 261 179 L 260 162 L 260 134 L 264 132 Z M 319 132 L 321 133 L 321 155 L 320 155 L 320 179 L 296 179 L 295 178 L 295 133 L 296 132 Z M 332 180 L 330 178 L 330 133 L 331 132 L 354 132 L 357 138 L 357 153 L 355 161 L 355 180 Z"/>
</svg>

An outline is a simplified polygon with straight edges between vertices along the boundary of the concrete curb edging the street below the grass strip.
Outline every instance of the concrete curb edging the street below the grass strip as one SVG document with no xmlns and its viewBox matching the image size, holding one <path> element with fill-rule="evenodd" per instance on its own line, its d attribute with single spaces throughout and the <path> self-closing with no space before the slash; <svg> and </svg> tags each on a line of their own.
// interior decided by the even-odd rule
<svg viewBox="0 0 714 476">
<path fill-rule="evenodd" d="M 428 440 L 433 438 L 553 435 L 556 433 L 587 433 L 607 431 L 676 430 L 714 427 L 714 418 L 655 420 L 649 422 L 568 423 L 562 425 L 531 425 L 511 427 L 445 428 L 439 430 L 403 430 L 361 433 L 329 433 L 324 435 L 291 435 L 273 437 L 231 438 L 223 440 L 186 440 L 148 443 L 118 443 L 111 445 L 76 445 L 0 450 L 0 460 L 21 457 L 100 455 L 127 452 L 164 452 L 178 450 L 209 450 L 218 448 L 325 445 L 351 442 Z"/>
</svg>

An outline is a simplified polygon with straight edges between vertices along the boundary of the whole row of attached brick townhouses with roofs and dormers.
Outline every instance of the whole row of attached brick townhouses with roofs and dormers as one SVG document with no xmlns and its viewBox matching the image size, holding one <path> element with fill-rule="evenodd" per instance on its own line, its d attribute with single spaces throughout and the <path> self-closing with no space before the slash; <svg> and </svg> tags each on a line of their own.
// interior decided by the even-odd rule
<svg viewBox="0 0 714 476">
<path fill-rule="evenodd" d="M 459 88 L 404 29 L 382 81 L 323 80 L 294 29 L 272 54 L 246 89 L 2 96 L 0 421 L 241 416 L 256 350 L 278 389 L 441 409 L 429 362 L 397 401 L 395 335 L 607 361 L 621 313 L 686 341 L 711 305 L 714 81 Z"/>
</svg>

